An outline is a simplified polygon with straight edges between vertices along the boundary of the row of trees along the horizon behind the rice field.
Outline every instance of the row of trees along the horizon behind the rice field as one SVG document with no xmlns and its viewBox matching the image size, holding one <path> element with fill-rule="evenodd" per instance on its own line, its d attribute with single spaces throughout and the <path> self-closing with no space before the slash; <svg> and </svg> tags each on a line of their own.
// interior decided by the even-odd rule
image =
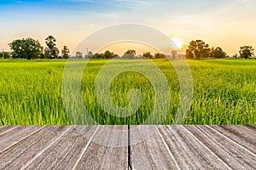
<svg viewBox="0 0 256 170">
<path fill-rule="evenodd" d="M 77 51 L 74 56 L 71 56 L 67 46 L 63 46 L 60 54 L 59 49 L 56 47 L 56 39 L 53 36 L 48 36 L 45 38 L 45 45 L 46 47 L 44 48 L 40 42 L 38 42 L 38 40 L 31 37 L 17 39 L 9 43 L 9 47 L 11 48 L 12 52 L 2 52 L 0 53 L 0 56 L 3 56 L 5 59 L 222 59 L 230 57 L 222 48 L 210 48 L 210 46 L 202 40 L 193 40 L 189 42 L 189 46 L 186 49 L 185 54 L 181 54 L 177 50 L 172 50 L 170 54 L 150 54 L 150 52 L 136 54 L 136 50 L 128 49 L 125 54 L 121 56 L 118 54 L 113 54 L 113 52 L 108 50 L 102 54 L 93 54 L 91 51 L 89 51 L 85 55 Z M 254 55 L 253 50 L 254 49 L 252 46 L 242 46 L 239 50 L 239 54 L 235 54 L 232 57 L 250 59 Z"/>
</svg>

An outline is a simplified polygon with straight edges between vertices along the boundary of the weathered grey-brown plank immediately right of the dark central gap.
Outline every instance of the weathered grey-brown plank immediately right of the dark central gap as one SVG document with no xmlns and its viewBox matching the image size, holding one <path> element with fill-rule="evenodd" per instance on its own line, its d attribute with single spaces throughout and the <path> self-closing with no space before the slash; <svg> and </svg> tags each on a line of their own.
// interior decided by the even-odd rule
<svg viewBox="0 0 256 170">
<path fill-rule="evenodd" d="M 136 126 L 131 126 L 135 128 Z M 152 126 L 143 126 L 144 128 L 152 128 Z M 137 138 L 143 136 L 143 131 L 138 130 L 131 138 L 131 165 L 133 169 L 179 169 L 177 162 L 173 159 L 169 148 L 166 148 L 165 142 L 158 133 L 154 133 L 148 139 L 136 144 Z M 157 131 L 156 131 L 157 132 Z M 135 141 L 134 141 L 135 140 Z"/>
</svg>

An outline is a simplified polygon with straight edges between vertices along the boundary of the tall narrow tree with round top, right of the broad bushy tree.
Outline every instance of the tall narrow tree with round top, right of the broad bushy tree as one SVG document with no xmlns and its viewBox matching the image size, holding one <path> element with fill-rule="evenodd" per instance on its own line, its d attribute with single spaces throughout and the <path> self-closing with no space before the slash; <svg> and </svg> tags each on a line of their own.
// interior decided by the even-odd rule
<svg viewBox="0 0 256 170">
<path fill-rule="evenodd" d="M 47 48 L 44 48 L 44 53 L 46 54 L 47 58 L 49 59 L 55 59 L 58 57 L 59 49 L 56 48 L 56 39 L 53 36 L 48 36 L 45 38 L 45 43 L 47 45 Z"/>
</svg>

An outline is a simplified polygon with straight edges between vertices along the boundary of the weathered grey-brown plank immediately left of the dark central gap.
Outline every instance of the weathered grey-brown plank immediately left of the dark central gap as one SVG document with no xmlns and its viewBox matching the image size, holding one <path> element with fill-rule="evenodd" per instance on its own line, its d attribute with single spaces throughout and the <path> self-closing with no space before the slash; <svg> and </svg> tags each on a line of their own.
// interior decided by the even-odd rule
<svg viewBox="0 0 256 170">
<path fill-rule="evenodd" d="M 101 126 L 98 128 L 98 132 L 96 133 L 98 137 L 101 136 L 101 133 L 104 133 L 105 127 Z M 127 126 L 108 126 L 108 128 L 127 129 Z M 102 139 L 101 143 L 112 145 L 112 140 L 123 142 L 124 138 L 127 141 L 128 133 L 124 132 L 120 136 L 111 133 L 108 138 Z M 127 155 L 127 147 L 110 147 L 91 142 L 83 155 L 81 155 L 76 169 L 127 169 Z"/>
</svg>

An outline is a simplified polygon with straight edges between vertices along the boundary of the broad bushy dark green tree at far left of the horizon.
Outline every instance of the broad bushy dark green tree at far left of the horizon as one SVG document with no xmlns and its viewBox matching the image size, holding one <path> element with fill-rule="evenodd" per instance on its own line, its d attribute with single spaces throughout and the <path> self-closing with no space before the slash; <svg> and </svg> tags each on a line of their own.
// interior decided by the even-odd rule
<svg viewBox="0 0 256 170">
<path fill-rule="evenodd" d="M 9 47 L 13 50 L 12 57 L 14 59 L 38 59 L 43 54 L 43 47 L 40 42 L 31 37 L 10 42 Z"/>
</svg>

